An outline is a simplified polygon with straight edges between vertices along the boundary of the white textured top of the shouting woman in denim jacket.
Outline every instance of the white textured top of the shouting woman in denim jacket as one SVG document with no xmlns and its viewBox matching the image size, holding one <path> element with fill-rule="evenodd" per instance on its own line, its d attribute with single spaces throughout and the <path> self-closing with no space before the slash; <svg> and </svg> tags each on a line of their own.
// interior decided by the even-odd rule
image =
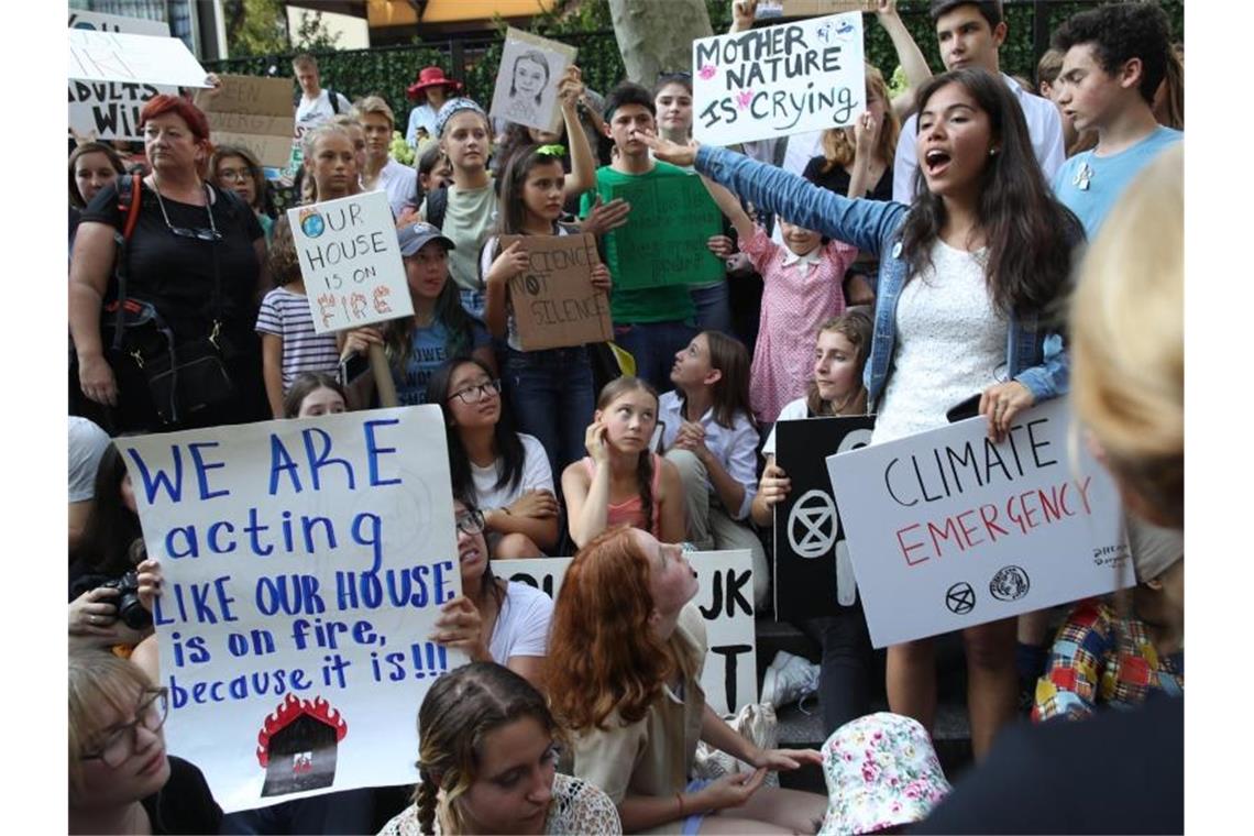
<svg viewBox="0 0 1254 836">
<path fill-rule="evenodd" d="M 988 295 L 987 257 L 938 238 L 930 267 L 905 283 L 872 444 L 944 426 L 949 407 L 1006 377 L 1009 323 Z"/>
</svg>

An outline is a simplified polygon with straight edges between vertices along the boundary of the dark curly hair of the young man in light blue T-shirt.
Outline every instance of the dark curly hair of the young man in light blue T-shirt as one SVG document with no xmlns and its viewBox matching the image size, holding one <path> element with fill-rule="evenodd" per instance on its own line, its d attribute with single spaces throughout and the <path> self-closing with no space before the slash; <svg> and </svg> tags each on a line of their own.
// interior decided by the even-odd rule
<svg viewBox="0 0 1254 836">
<path fill-rule="evenodd" d="M 1171 51 L 1171 26 L 1167 14 L 1152 3 L 1112 3 L 1072 15 L 1053 34 L 1055 49 L 1066 53 L 1087 44 L 1102 70 L 1114 74 L 1126 61 L 1141 61 L 1137 91 L 1146 104 L 1167 73 Z"/>
</svg>

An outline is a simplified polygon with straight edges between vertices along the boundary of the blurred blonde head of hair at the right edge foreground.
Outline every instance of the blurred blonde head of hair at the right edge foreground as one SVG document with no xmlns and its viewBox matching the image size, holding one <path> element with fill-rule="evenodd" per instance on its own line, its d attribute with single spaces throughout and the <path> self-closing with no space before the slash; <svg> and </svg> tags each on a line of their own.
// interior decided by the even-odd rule
<svg viewBox="0 0 1254 836">
<path fill-rule="evenodd" d="M 1124 192 L 1080 266 L 1071 396 L 1121 488 L 1184 524 L 1184 143 Z"/>
</svg>

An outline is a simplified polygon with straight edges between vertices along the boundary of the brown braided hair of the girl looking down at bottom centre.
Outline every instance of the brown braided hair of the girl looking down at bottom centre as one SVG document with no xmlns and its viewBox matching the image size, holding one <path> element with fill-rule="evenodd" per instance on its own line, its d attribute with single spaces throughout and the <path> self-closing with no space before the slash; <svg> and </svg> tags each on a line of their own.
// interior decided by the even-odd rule
<svg viewBox="0 0 1254 836">
<path fill-rule="evenodd" d="M 473 662 L 435 681 L 418 709 L 420 783 L 414 806 L 421 832 L 435 832 L 436 816 L 441 832 L 466 832 L 458 798 L 478 777 L 484 738 L 524 717 L 547 734 L 559 734 L 544 696 L 495 662 Z"/>
</svg>

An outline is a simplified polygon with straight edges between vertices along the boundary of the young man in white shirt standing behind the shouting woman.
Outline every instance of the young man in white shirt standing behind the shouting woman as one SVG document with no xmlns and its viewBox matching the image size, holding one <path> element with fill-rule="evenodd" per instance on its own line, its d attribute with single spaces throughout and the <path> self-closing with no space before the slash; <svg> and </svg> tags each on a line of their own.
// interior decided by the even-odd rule
<svg viewBox="0 0 1254 836">
<path fill-rule="evenodd" d="M 1021 88 L 1011 76 L 1001 71 L 998 49 L 1006 41 L 1006 18 L 1002 14 L 1001 0 L 932 0 L 932 21 L 935 24 L 937 40 L 940 46 L 940 60 L 947 70 L 962 66 L 979 66 L 1002 76 L 1006 85 L 1014 93 L 1036 162 L 1041 164 L 1047 182 L 1066 159 L 1062 144 L 1062 119 L 1058 109 L 1048 99 L 1033 95 Z M 897 142 L 897 158 L 893 160 L 893 199 L 898 203 L 913 203 L 915 172 L 919 160 L 914 150 L 918 133 L 918 117 L 910 117 L 902 127 L 902 137 Z"/>
</svg>

